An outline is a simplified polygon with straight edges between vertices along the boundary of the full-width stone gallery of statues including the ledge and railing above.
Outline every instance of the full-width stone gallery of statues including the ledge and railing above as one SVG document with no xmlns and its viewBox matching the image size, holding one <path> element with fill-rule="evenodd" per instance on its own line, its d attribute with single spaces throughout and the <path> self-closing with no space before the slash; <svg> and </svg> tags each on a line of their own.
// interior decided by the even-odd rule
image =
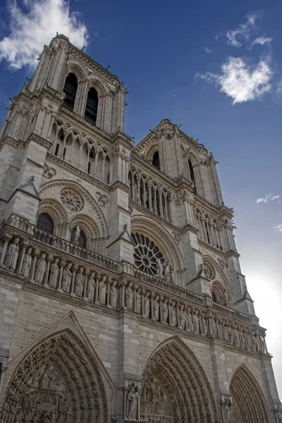
<svg viewBox="0 0 282 423">
<path fill-rule="evenodd" d="M 250 317 L 157 277 L 115 274 L 34 238 L 3 233 L 0 265 L 26 281 L 109 309 L 126 310 L 171 329 L 267 353 L 264 329 Z"/>
</svg>

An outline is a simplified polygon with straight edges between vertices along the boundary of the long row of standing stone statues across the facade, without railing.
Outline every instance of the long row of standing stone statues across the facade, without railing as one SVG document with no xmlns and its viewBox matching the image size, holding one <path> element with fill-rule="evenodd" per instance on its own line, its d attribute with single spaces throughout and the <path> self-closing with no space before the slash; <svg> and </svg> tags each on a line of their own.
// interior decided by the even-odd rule
<svg viewBox="0 0 282 423">
<path fill-rule="evenodd" d="M 10 244 L 4 266 L 16 271 L 19 238 Z M 2 252 L 1 260 L 5 251 Z M 144 290 L 133 282 L 123 282 L 117 288 L 117 281 L 110 280 L 95 271 L 64 262 L 59 257 L 51 257 L 45 252 L 34 251 L 32 247 L 24 248 L 17 268 L 18 274 L 30 278 L 32 283 L 58 290 L 72 297 L 82 298 L 95 304 L 114 309 L 120 307 L 140 314 L 145 319 L 158 321 L 183 331 L 201 336 L 212 336 L 226 343 L 266 353 L 264 336 L 261 332 L 252 331 L 226 321 L 217 314 L 205 314 L 194 307 L 176 302 L 161 295 Z M 121 291 L 121 302 L 118 302 L 118 290 Z"/>
</svg>

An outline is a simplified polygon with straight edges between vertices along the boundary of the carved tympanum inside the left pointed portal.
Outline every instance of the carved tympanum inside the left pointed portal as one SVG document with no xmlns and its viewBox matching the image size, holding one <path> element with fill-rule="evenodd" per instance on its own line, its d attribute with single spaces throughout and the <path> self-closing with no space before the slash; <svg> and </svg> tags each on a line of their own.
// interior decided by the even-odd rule
<svg viewBox="0 0 282 423">
<path fill-rule="evenodd" d="M 14 422 L 68 423 L 72 421 L 71 397 L 56 368 L 47 363 L 23 393 Z"/>
</svg>

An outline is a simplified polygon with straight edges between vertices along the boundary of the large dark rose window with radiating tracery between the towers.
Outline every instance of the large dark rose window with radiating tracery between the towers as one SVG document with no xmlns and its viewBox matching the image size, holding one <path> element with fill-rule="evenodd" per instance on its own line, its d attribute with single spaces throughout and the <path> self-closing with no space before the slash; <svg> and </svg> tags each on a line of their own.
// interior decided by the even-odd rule
<svg viewBox="0 0 282 423">
<path fill-rule="evenodd" d="M 159 248 L 152 240 L 141 233 L 132 233 L 131 238 L 134 243 L 134 262 L 137 269 L 146 273 L 157 275 L 157 260 L 163 259 Z"/>
</svg>

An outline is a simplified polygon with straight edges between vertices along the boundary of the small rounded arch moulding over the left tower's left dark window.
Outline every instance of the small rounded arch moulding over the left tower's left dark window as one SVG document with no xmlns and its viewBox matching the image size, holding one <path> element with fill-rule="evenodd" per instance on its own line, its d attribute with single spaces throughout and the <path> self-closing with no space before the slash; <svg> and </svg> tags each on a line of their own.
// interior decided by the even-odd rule
<svg viewBox="0 0 282 423">
<path fill-rule="evenodd" d="M 39 214 L 47 213 L 54 221 L 54 235 L 62 236 L 61 229 L 68 223 L 68 214 L 65 207 L 54 198 L 46 197 L 39 202 L 37 217 Z"/>
</svg>

